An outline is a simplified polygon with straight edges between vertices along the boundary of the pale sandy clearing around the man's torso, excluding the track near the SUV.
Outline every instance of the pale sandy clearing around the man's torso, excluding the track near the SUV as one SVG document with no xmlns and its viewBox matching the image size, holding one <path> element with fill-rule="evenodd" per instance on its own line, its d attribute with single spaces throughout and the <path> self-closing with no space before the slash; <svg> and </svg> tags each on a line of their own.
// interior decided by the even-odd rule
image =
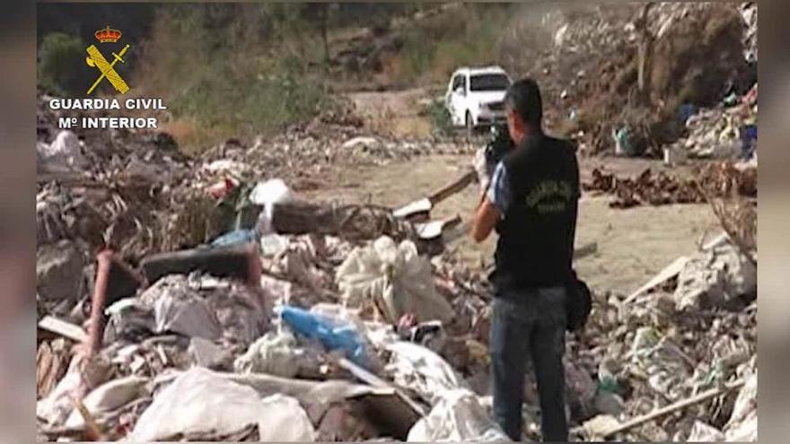
<svg viewBox="0 0 790 444">
<path fill-rule="evenodd" d="M 470 162 L 468 156 L 429 156 L 383 167 L 334 171 L 322 180 L 326 186 L 304 192 L 312 198 L 338 199 L 397 207 L 459 178 Z M 646 162 L 646 163 L 645 163 Z M 589 163 L 589 164 L 588 164 Z M 583 175 L 592 165 L 584 162 Z M 636 170 L 649 161 L 636 161 Z M 628 168 L 628 161 L 619 161 Z M 659 165 L 656 163 L 656 165 Z M 619 170 L 619 168 L 616 168 Z M 594 289 L 628 293 L 669 265 L 676 257 L 692 253 L 699 239 L 717 234 L 717 222 L 707 205 L 641 206 L 627 210 L 609 207 L 610 197 L 584 195 L 580 203 L 576 245 L 591 242 L 597 252 L 576 263 L 578 273 Z M 474 184 L 438 205 L 434 219 L 460 214 L 468 220 L 478 202 Z M 481 245 L 465 237 L 450 245 L 470 266 L 492 261 L 496 235 Z"/>
</svg>

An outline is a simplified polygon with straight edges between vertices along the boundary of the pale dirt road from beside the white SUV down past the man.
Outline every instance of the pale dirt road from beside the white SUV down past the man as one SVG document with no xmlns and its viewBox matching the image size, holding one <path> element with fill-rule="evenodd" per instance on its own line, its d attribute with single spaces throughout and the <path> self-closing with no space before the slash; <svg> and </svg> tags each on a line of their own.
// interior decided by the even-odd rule
<svg viewBox="0 0 790 444">
<path fill-rule="evenodd" d="M 421 100 L 430 99 L 429 91 L 355 92 L 347 94 L 356 112 L 372 132 L 395 137 L 420 138 L 430 133 L 430 122 L 418 115 Z M 369 202 L 397 207 L 458 178 L 470 165 L 470 156 L 429 156 L 385 167 L 367 167 L 354 171 L 333 170 L 321 178 L 325 186 L 308 192 L 320 199 L 346 202 Z M 585 158 L 580 161 L 582 179 L 594 168 L 605 168 L 617 175 L 635 175 L 651 168 L 665 170 L 661 161 L 623 158 Z M 689 175 L 691 168 L 672 170 L 674 175 Z M 675 258 L 697 248 L 699 239 L 719 231 L 715 215 L 707 205 L 640 206 L 628 210 L 609 207 L 610 197 L 585 195 L 580 203 L 576 243 L 583 246 L 597 242 L 598 252 L 580 260 L 579 274 L 594 288 L 614 292 L 631 292 L 669 265 Z M 468 220 L 478 203 L 477 185 L 439 205 L 434 218 L 460 214 Z M 459 239 L 450 247 L 471 266 L 490 264 L 496 236 L 482 245 L 469 238 Z"/>
</svg>

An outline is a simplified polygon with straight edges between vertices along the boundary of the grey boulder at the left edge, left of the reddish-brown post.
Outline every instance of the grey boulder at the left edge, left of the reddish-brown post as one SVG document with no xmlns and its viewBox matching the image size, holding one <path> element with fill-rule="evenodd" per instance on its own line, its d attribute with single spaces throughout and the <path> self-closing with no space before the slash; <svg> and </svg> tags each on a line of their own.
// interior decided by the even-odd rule
<svg viewBox="0 0 790 444">
<path fill-rule="evenodd" d="M 87 264 L 70 240 L 42 245 L 36 252 L 36 291 L 41 300 L 76 302 L 83 296 L 83 269 Z"/>
</svg>

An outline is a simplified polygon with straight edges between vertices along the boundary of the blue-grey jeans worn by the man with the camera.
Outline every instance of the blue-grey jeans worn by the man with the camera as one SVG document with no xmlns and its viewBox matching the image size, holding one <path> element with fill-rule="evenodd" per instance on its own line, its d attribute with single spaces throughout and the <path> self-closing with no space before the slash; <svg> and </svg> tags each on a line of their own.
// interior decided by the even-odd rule
<svg viewBox="0 0 790 444">
<path fill-rule="evenodd" d="M 552 287 L 509 292 L 494 298 L 491 379 L 494 420 L 512 440 L 522 438 L 527 361 L 538 383 L 543 440 L 567 441 L 565 411 L 566 290 Z"/>
</svg>

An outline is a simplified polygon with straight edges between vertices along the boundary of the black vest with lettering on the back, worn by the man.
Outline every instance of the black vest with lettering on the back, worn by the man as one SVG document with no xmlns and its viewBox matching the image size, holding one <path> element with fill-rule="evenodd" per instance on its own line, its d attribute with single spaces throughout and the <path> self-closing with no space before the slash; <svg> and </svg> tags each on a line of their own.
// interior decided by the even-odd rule
<svg viewBox="0 0 790 444">
<path fill-rule="evenodd" d="M 497 223 L 496 292 L 565 284 L 572 273 L 579 169 L 575 145 L 539 135 L 503 159 L 511 202 Z"/>
</svg>

